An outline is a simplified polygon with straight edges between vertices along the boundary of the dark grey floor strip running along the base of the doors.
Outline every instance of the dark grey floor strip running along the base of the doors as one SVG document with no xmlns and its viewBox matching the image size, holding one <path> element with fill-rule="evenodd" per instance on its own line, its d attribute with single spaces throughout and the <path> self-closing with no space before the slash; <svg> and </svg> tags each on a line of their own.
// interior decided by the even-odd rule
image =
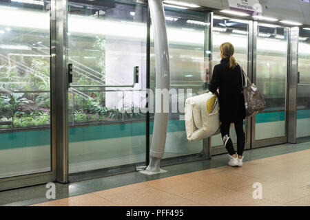
<svg viewBox="0 0 310 220">
<path fill-rule="evenodd" d="M 310 149 L 310 142 L 300 144 L 281 144 L 277 146 L 256 148 L 253 150 L 245 151 L 245 161 L 272 157 L 307 149 Z M 212 159 L 197 162 L 187 162 L 184 164 L 177 164 L 173 166 L 165 166 L 163 167 L 163 169 L 167 170 L 168 172 L 158 175 L 149 176 L 134 172 L 126 173 L 123 175 L 115 175 L 112 177 L 80 181 L 72 184 L 56 183 L 56 199 L 62 199 L 76 195 L 84 195 L 90 192 L 96 192 L 109 188 L 116 188 L 128 184 L 149 181 L 152 179 L 159 179 L 184 173 L 191 173 L 194 171 L 205 170 L 208 168 L 216 168 L 219 166 L 227 166 L 227 155 L 217 155 L 212 157 Z M 45 197 L 45 193 L 47 192 L 47 190 L 48 189 L 45 188 L 45 184 L 26 188 L 19 188 L 15 190 L 6 190 L 0 192 L 0 205 L 27 206 L 34 203 L 50 201 Z"/>
</svg>

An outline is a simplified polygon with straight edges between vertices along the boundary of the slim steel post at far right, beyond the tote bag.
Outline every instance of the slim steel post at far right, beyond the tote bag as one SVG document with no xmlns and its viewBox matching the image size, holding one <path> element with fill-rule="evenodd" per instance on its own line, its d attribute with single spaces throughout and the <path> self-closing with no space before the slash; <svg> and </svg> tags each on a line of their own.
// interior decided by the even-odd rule
<svg viewBox="0 0 310 220">
<path fill-rule="evenodd" d="M 298 80 L 298 35 L 299 28 L 289 30 L 289 97 L 287 138 L 289 143 L 296 143 L 296 115 L 297 115 L 297 80 Z"/>
</svg>

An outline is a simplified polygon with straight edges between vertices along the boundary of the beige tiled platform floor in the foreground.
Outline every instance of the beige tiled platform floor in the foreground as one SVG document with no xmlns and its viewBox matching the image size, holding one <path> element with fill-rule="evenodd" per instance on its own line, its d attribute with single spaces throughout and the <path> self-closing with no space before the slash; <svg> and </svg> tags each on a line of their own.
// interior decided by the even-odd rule
<svg viewBox="0 0 310 220">
<path fill-rule="evenodd" d="M 262 184 L 254 199 L 253 184 Z M 310 150 L 145 181 L 33 206 L 310 206 Z"/>
</svg>

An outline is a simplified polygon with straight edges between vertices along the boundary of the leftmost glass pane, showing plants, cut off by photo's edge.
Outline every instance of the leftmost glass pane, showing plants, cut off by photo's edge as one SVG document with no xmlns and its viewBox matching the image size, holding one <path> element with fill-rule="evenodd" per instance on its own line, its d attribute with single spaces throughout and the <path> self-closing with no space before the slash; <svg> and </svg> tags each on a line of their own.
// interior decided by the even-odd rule
<svg viewBox="0 0 310 220">
<path fill-rule="evenodd" d="M 0 0 L 0 179 L 51 170 L 48 5 Z"/>
</svg>

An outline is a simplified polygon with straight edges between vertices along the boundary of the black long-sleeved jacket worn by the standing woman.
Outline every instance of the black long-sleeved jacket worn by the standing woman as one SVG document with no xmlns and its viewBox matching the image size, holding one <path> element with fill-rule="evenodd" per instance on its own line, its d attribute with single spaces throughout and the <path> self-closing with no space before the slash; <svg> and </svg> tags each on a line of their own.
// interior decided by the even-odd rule
<svg viewBox="0 0 310 220">
<path fill-rule="evenodd" d="M 245 77 L 243 76 L 243 82 Z M 216 93 L 219 89 L 220 121 L 236 122 L 245 119 L 245 98 L 242 91 L 240 66 L 229 68 L 229 58 L 223 58 L 213 70 L 209 91 Z"/>
</svg>

